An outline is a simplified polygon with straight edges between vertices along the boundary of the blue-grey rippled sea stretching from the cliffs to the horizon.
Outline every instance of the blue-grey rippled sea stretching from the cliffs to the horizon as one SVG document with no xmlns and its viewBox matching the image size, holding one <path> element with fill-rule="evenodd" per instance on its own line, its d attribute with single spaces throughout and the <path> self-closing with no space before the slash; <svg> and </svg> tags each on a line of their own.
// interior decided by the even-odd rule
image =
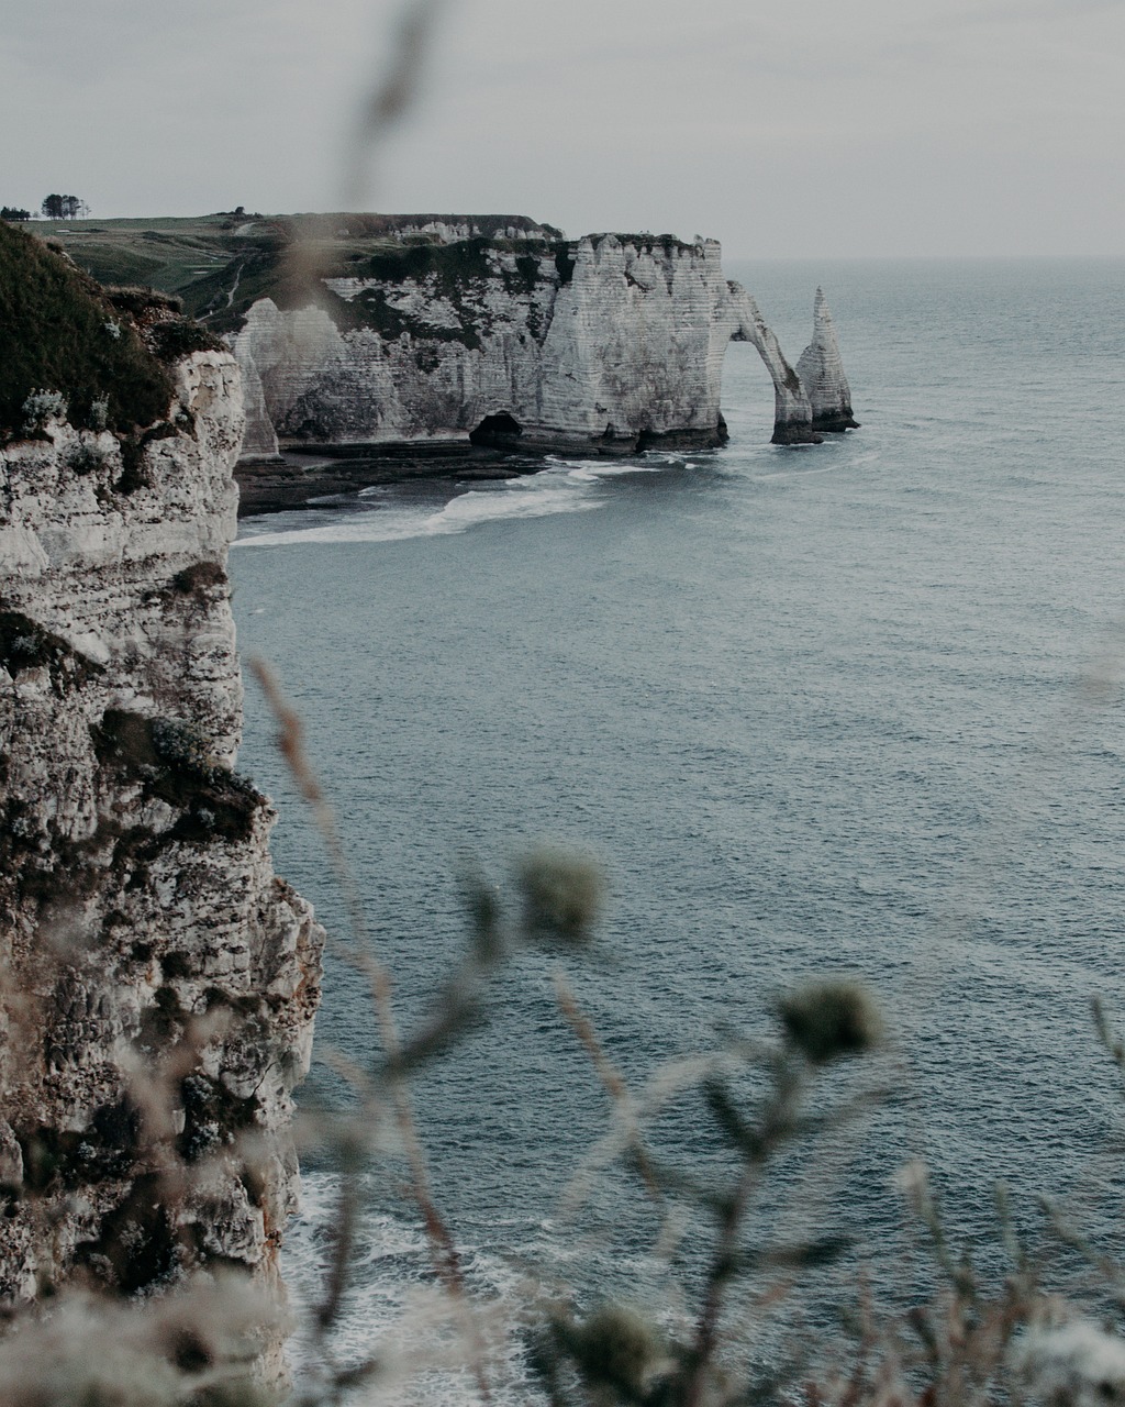
<svg viewBox="0 0 1125 1407">
<path fill-rule="evenodd" d="M 733 1034 L 768 1038 L 773 1000 L 804 979 L 855 975 L 878 995 L 886 1051 L 825 1071 L 810 1110 L 885 1096 L 786 1154 L 750 1221 L 759 1248 L 852 1238 L 772 1318 L 745 1320 L 768 1366 L 802 1324 L 835 1331 L 865 1268 L 890 1307 L 924 1293 L 932 1259 L 900 1186 L 913 1159 L 986 1278 L 1004 1265 L 997 1179 L 1032 1241 L 1046 1196 L 1119 1242 L 1119 1085 L 1090 998 L 1125 1024 L 1125 262 L 728 276 L 790 360 L 824 286 L 859 431 L 772 447 L 769 378 L 733 345 L 721 450 L 368 490 L 246 521 L 231 570 L 240 649 L 304 719 L 404 1030 L 465 950 L 465 872 L 510 892 L 544 839 L 602 857 L 595 950 L 512 960 L 488 1024 L 415 1086 L 436 1202 L 498 1317 L 561 1279 L 672 1321 L 710 1247 L 696 1216 L 658 1254 L 620 1164 L 584 1183 L 579 1210 L 562 1200 L 612 1120 L 560 1013 L 560 968 L 637 1090 Z M 240 767 L 278 803 L 277 870 L 343 940 L 273 732 L 248 684 Z M 342 1061 L 378 1058 L 342 947 L 307 1104 L 342 1097 Z M 728 1175 L 690 1090 L 650 1131 L 671 1165 Z M 402 1182 L 394 1157 L 364 1175 L 343 1362 L 401 1348 L 404 1323 L 430 1334 Z M 298 1303 L 322 1293 L 338 1189 L 311 1154 L 285 1251 Z M 1052 1263 L 1067 1285 L 1079 1273 Z M 474 1399 L 457 1373 L 395 1392 Z M 518 1335 L 496 1400 L 533 1400 Z"/>
</svg>

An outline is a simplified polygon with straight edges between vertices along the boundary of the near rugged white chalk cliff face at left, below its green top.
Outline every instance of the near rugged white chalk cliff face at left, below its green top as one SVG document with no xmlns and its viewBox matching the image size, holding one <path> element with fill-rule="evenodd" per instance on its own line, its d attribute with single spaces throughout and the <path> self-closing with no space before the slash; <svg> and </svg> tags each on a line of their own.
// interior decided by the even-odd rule
<svg viewBox="0 0 1125 1407">
<path fill-rule="evenodd" d="M 294 1209 L 290 1089 L 323 931 L 232 771 L 233 359 L 174 367 L 165 438 L 51 421 L 0 449 L 0 1309 L 225 1262 Z M 274 1345 L 276 1348 L 276 1345 Z"/>
</svg>

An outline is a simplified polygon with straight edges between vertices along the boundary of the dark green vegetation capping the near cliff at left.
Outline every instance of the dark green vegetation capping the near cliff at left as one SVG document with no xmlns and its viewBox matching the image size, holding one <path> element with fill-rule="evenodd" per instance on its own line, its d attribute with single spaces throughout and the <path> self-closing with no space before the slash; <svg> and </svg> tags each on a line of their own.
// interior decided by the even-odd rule
<svg viewBox="0 0 1125 1407">
<path fill-rule="evenodd" d="M 0 431 L 22 433 L 42 390 L 66 398 L 79 428 L 129 432 L 165 418 L 172 378 L 93 279 L 0 222 Z"/>
</svg>

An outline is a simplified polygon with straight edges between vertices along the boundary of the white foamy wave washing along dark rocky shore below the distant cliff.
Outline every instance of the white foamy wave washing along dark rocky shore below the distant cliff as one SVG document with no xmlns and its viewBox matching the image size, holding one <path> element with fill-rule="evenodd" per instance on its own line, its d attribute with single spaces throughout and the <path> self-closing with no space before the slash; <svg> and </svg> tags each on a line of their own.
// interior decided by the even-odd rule
<svg viewBox="0 0 1125 1407">
<path fill-rule="evenodd" d="M 442 508 L 404 502 L 402 487 L 361 490 L 330 508 L 245 518 L 235 547 L 290 547 L 297 543 L 398 542 L 467 532 L 482 523 L 509 518 L 547 518 L 554 514 L 589 512 L 605 502 L 595 492 L 606 478 L 654 474 L 682 460 L 651 456 L 652 463 L 620 460 L 561 460 L 548 457 L 537 474 L 496 480 L 450 498 Z M 416 494 L 418 485 L 409 485 Z M 311 521 L 312 518 L 312 521 Z"/>
</svg>

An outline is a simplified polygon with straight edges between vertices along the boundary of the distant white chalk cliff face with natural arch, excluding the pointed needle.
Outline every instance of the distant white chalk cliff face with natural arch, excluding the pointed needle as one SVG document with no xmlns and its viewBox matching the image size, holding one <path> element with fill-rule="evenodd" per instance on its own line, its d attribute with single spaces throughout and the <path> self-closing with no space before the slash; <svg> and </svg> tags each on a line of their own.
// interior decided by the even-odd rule
<svg viewBox="0 0 1125 1407">
<path fill-rule="evenodd" d="M 717 445 L 731 339 L 752 342 L 773 378 L 775 440 L 818 439 L 802 378 L 750 294 L 724 279 L 714 241 L 461 248 L 460 265 L 437 270 L 325 279 L 321 305 L 255 303 L 232 339 L 245 453 L 465 433 L 593 453 Z"/>
</svg>

